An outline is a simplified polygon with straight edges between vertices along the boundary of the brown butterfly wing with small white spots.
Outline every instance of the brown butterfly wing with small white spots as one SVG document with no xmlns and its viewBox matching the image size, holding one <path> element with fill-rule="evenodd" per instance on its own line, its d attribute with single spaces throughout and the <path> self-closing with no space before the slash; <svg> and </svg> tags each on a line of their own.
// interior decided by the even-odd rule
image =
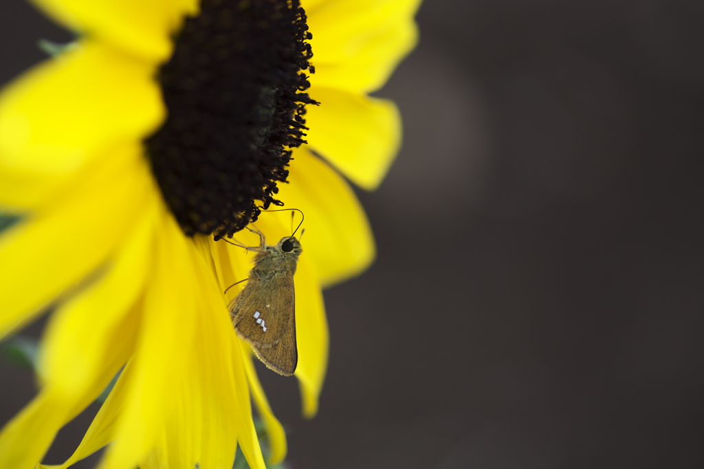
<svg viewBox="0 0 704 469">
<path fill-rule="evenodd" d="M 266 366 L 286 376 L 294 374 L 298 363 L 295 302 L 294 276 L 285 271 L 251 278 L 230 309 L 239 338 Z"/>
</svg>

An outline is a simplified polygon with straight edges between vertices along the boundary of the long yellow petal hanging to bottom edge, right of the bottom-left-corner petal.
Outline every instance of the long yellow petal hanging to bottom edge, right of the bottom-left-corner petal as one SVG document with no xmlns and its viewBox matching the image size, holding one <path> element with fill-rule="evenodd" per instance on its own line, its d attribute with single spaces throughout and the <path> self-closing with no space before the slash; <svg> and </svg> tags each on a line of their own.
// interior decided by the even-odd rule
<svg viewBox="0 0 704 469">
<path fill-rule="evenodd" d="M 144 298 L 130 389 L 115 430 L 115 442 L 106 453 L 106 468 L 134 467 L 156 446 L 165 421 L 177 410 L 177 390 L 188 385 L 184 369 L 190 364 L 196 323 L 196 285 L 189 281 L 194 266 L 183 233 L 166 207 L 156 224 L 156 264 Z"/>
</svg>

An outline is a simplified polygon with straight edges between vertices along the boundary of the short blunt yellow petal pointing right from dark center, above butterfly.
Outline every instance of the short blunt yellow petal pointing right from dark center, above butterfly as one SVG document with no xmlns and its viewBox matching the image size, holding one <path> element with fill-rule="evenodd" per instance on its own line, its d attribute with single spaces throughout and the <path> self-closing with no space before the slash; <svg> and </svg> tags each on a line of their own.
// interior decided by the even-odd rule
<svg viewBox="0 0 704 469">
<path fill-rule="evenodd" d="M 345 176 L 372 190 L 386 176 L 401 145 L 401 116 L 391 101 L 330 88 L 310 92 L 308 143 Z"/>
</svg>

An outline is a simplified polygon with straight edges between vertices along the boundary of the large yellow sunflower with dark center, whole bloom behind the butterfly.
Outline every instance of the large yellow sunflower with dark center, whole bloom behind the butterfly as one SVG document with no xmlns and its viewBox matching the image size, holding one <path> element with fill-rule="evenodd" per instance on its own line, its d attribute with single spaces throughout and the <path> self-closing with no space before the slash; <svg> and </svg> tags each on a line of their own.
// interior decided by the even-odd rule
<svg viewBox="0 0 704 469">
<path fill-rule="evenodd" d="M 239 444 L 264 468 L 251 400 L 282 460 L 227 311 L 239 286 L 222 295 L 251 253 L 220 238 L 256 245 L 256 220 L 278 240 L 291 217 L 263 210 L 305 213 L 296 376 L 313 416 L 321 288 L 374 257 L 340 173 L 373 189 L 398 149 L 396 108 L 367 94 L 415 43 L 418 1 L 34 0 L 80 39 L 0 95 L 0 205 L 20 217 L 0 236 L 0 338 L 53 311 L 0 467 L 42 461 L 118 374 L 61 467 L 110 444 L 105 468 L 230 468 Z"/>
</svg>

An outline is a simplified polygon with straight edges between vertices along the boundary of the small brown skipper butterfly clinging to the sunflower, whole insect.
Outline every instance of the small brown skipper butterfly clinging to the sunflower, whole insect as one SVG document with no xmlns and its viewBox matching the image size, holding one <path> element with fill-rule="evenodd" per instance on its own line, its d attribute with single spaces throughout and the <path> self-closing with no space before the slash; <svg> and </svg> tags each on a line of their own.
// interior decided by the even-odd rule
<svg viewBox="0 0 704 469">
<path fill-rule="evenodd" d="M 263 363 L 282 375 L 292 375 L 296 349 L 296 290 L 294 274 L 303 249 L 294 236 L 265 245 L 254 258 L 247 284 L 230 303 L 237 335 L 252 346 Z"/>
</svg>

